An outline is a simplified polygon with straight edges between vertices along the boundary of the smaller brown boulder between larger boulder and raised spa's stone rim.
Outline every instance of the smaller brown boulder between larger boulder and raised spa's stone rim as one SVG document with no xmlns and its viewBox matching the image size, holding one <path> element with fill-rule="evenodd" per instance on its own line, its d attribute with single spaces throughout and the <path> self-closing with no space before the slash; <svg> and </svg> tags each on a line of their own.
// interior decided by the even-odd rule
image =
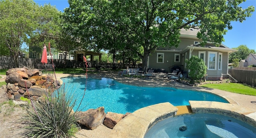
<svg viewBox="0 0 256 138">
<path fill-rule="evenodd" d="M 113 113 L 113 112 L 107 112 L 107 115 L 103 121 L 103 124 L 113 129 L 114 126 L 123 118 L 123 114 Z"/>
</svg>

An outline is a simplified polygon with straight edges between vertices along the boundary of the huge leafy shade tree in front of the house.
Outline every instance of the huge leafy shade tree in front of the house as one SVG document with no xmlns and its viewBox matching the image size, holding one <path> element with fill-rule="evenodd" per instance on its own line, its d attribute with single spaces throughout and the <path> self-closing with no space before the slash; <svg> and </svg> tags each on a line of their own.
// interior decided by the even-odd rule
<svg viewBox="0 0 256 138">
<path fill-rule="evenodd" d="M 107 49 L 126 46 L 142 59 L 144 71 L 148 68 L 150 52 L 159 47 L 178 46 L 181 28 L 199 29 L 197 37 L 203 41 L 201 44 L 211 41 L 218 45 L 224 40 L 226 28 L 232 29 L 231 21 L 242 22 L 254 11 L 253 6 L 246 9 L 238 6 L 242 0 L 102 1 L 69 0 L 70 8 L 64 11 L 66 21 L 77 28 L 80 36 L 92 33 L 93 37 L 88 38 L 95 37 L 96 44 L 102 42 L 102 39 L 98 39 L 100 35 L 106 39 L 103 42 L 114 42 L 108 44 Z M 108 28 L 110 26 L 115 31 Z M 94 31 L 99 28 L 105 29 L 102 32 Z M 114 38 L 108 35 L 111 31 L 118 34 L 115 41 L 110 41 Z M 111 37 L 104 36 L 104 33 Z"/>
</svg>

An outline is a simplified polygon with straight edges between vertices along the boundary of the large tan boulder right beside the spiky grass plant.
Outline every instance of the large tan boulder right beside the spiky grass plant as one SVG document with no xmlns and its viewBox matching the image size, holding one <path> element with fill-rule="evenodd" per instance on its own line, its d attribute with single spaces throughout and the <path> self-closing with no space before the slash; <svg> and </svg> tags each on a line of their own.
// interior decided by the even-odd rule
<svg viewBox="0 0 256 138">
<path fill-rule="evenodd" d="M 99 107 L 97 109 L 89 109 L 85 112 L 79 112 L 76 116 L 79 120 L 77 121 L 78 124 L 84 125 L 87 128 L 94 130 L 102 122 L 106 117 L 106 113 L 104 111 L 104 107 Z"/>
</svg>

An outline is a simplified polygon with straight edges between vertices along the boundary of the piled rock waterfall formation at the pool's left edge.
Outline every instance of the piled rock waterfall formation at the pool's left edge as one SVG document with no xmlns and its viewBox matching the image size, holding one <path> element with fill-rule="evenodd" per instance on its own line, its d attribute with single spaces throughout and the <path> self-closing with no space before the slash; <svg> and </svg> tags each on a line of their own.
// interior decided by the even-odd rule
<svg viewBox="0 0 256 138">
<path fill-rule="evenodd" d="M 27 67 L 7 70 L 5 82 L 7 83 L 7 97 L 16 101 L 21 101 L 22 96 L 28 98 L 28 94 L 33 100 L 39 100 L 41 96 L 46 96 L 47 92 L 53 92 L 60 86 L 60 82 L 56 82 L 52 76 L 42 74 L 38 69 Z"/>
</svg>

